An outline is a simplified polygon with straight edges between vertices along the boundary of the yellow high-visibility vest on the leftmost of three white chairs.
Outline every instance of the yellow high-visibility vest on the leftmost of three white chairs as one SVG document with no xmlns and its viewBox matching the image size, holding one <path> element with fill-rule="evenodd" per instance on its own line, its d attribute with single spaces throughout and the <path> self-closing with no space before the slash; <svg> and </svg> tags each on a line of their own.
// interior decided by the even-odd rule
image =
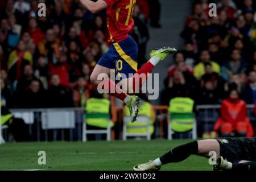
<svg viewBox="0 0 256 182">
<path fill-rule="evenodd" d="M 85 122 L 87 125 L 107 128 L 108 122 L 110 127 L 114 123 L 110 121 L 110 101 L 106 98 L 89 98 L 85 106 Z"/>
</svg>

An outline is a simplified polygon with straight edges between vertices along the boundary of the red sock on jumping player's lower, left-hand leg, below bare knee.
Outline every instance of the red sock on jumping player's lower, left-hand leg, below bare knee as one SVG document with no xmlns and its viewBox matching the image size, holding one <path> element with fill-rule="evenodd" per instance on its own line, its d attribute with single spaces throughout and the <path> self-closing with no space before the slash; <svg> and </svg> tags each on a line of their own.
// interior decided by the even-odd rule
<svg viewBox="0 0 256 182">
<path fill-rule="evenodd" d="M 110 96 L 119 98 L 122 101 L 124 101 L 127 97 L 127 94 L 121 88 L 119 88 L 119 86 L 117 86 L 114 81 L 110 80 L 109 78 L 102 81 L 101 84 L 103 84 L 102 89 L 104 89 L 104 92 L 108 93 Z"/>
</svg>

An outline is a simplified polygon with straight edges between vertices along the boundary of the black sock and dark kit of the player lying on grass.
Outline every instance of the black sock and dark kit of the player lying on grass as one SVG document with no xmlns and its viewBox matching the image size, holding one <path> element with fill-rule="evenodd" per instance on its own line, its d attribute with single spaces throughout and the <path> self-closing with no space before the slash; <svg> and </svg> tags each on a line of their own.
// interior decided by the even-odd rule
<svg viewBox="0 0 256 182">
<path fill-rule="evenodd" d="M 233 163 L 232 169 L 256 169 L 256 138 L 220 138 L 220 156 Z M 175 147 L 160 157 L 162 164 L 177 163 L 187 159 L 190 155 L 198 155 L 197 141 Z M 241 160 L 250 163 L 238 164 Z"/>
</svg>

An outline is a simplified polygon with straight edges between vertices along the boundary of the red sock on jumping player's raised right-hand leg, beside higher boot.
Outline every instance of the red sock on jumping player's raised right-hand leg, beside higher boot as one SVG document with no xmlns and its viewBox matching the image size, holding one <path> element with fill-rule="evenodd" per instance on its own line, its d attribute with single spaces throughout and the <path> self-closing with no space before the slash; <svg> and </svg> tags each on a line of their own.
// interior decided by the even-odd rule
<svg viewBox="0 0 256 182">
<path fill-rule="evenodd" d="M 141 89 L 142 84 L 147 80 L 148 73 L 151 73 L 154 69 L 154 65 L 148 61 L 144 64 L 141 69 L 139 69 L 133 76 L 133 91 L 139 91 L 137 89 Z"/>
</svg>

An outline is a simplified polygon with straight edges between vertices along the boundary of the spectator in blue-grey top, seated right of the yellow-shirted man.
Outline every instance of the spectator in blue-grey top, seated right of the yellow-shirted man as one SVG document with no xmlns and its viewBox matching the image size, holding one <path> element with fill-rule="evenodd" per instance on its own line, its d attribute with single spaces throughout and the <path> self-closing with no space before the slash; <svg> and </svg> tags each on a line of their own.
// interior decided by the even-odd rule
<svg viewBox="0 0 256 182">
<path fill-rule="evenodd" d="M 225 81 L 230 81 L 232 75 L 242 75 L 245 73 L 245 62 L 242 60 L 238 49 L 233 49 L 230 60 L 221 67 L 221 76 Z"/>
</svg>

